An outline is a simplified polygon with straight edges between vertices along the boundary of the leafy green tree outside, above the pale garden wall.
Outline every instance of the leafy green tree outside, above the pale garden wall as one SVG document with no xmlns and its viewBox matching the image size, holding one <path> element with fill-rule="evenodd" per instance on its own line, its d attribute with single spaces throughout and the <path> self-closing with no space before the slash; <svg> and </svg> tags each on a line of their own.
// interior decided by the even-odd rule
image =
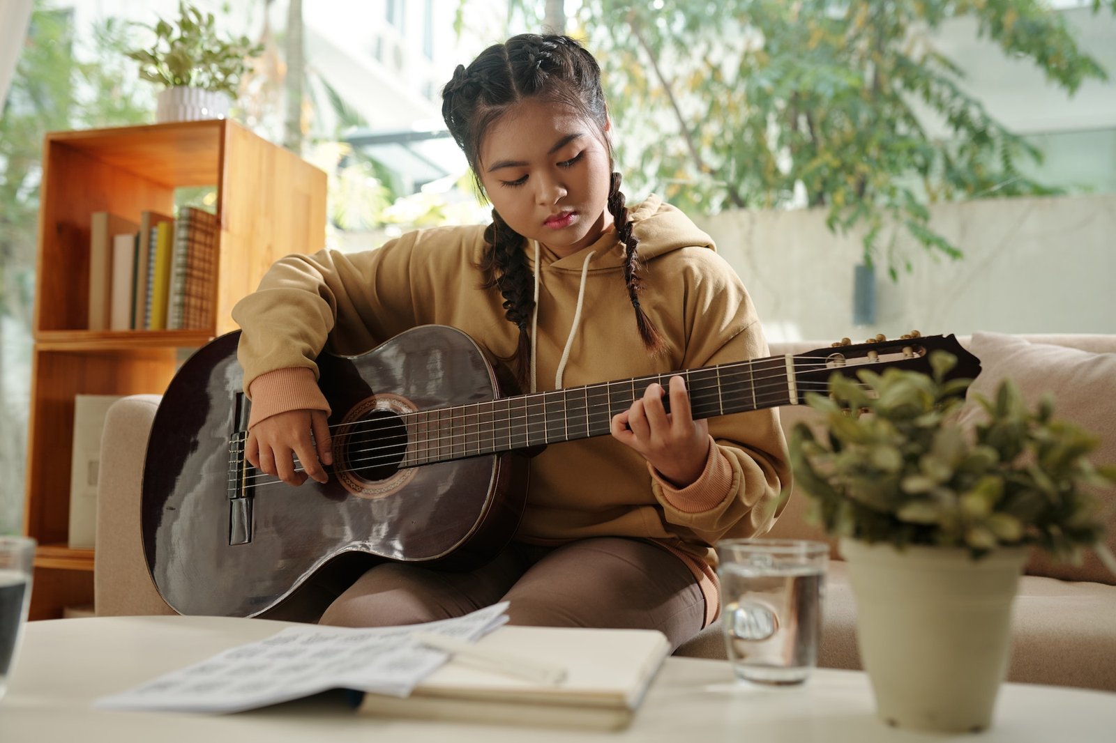
<svg viewBox="0 0 1116 743">
<path fill-rule="evenodd" d="M 540 0 L 512 0 L 530 29 Z M 1116 12 L 1093 0 L 1094 12 Z M 1022 175 L 1042 153 L 965 91 L 933 46 L 951 19 L 1072 94 L 1107 73 L 1041 0 L 584 0 L 567 32 L 602 64 L 635 190 L 692 213 L 816 206 L 858 230 L 865 260 L 910 268 L 888 225 L 959 257 L 927 204 L 1057 192 Z M 915 102 L 950 135 L 932 137 Z"/>
</svg>

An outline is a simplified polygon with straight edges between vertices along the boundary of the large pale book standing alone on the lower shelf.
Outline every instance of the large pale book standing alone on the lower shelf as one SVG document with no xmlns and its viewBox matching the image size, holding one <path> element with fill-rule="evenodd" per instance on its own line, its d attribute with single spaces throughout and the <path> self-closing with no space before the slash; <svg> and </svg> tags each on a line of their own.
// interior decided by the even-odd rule
<svg viewBox="0 0 1116 743">
<path fill-rule="evenodd" d="M 97 535 L 97 479 L 100 438 L 108 407 L 119 395 L 76 395 L 70 453 L 70 513 L 68 546 L 92 550 Z"/>
</svg>

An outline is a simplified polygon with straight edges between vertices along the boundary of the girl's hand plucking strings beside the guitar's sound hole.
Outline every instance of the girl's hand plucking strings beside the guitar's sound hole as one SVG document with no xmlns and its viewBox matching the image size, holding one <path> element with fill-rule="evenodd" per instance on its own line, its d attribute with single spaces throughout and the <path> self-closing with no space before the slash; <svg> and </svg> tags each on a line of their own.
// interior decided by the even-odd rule
<svg viewBox="0 0 1116 743">
<path fill-rule="evenodd" d="M 323 464 L 333 464 L 329 425 L 324 411 L 287 411 L 264 418 L 248 432 L 244 456 L 253 467 L 288 485 L 301 485 L 307 476 L 329 480 Z M 312 437 L 311 437 L 312 434 Z M 296 470 L 294 457 L 301 470 Z"/>
</svg>

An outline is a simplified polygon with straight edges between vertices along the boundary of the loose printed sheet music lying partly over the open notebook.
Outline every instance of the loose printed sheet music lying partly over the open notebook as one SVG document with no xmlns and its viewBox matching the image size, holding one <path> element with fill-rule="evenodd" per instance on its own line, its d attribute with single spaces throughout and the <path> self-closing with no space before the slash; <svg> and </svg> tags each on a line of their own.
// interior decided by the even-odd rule
<svg viewBox="0 0 1116 743">
<path fill-rule="evenodd" d="M 103 710 L 241 712 L 330 688 L 406 696 L 445 663 L 414 631 L 475 640 L 508 621 L 502 601 L 454 619 L 402 627 L 288 627 L 94 703 Z"/>
</svg>

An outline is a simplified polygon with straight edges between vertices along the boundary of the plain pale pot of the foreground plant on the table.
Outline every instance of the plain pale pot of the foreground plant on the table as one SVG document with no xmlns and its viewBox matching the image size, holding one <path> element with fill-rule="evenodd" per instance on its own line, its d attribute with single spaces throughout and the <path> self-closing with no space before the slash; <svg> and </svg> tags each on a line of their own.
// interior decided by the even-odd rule
<svg viewBox="0 0 1116 743">
<path fill-rule="evenodd" d="M 1011 604 L 1027 548 L 968 550 L 843 539 L 860 660 L 889 725 L 977 732 L 1008 669 Z"/>
</svg>

